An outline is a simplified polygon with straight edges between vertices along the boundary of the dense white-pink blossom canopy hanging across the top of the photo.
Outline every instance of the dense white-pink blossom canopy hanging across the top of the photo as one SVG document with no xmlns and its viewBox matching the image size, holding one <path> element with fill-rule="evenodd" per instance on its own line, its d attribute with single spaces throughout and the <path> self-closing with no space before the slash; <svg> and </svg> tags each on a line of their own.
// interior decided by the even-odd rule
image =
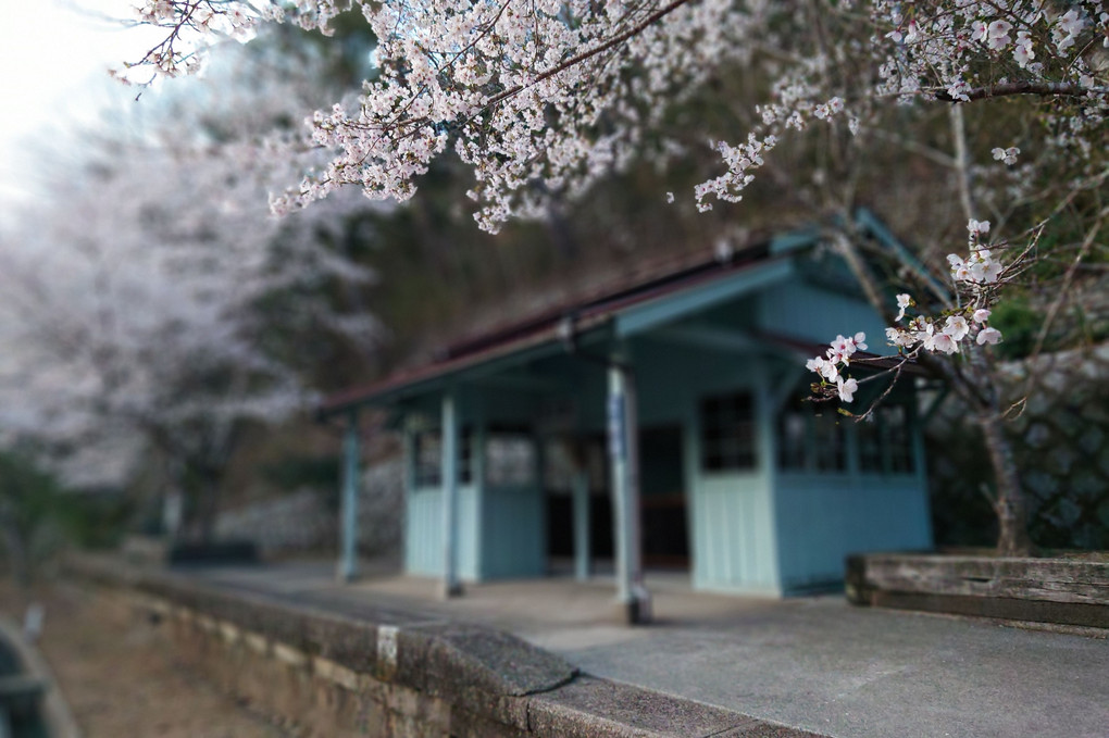
<svg viewBox="0 0 1109 738">
<path fill-rule="evenodd" d="M 772 50 L 770 99 L 739 143 L 713 143 L 723 172 L 694 188 L 702 211 L 713 199 L 739 201 L 784 136 L 840 122 L 855 134 L 885 96 L 1078 91 L 1092 111 L 1086 130 L 1103 124 L 1106 70 L 1087 53 L 1098 38 L 1109 43 L 1099 0 L 1058 11 L 1039 0 L 843 4 L 816 43 L 797 25 L 808 11 L 790 1 L 145 0 L 141 20 L 169 38 L 141 63 L 192 71 L 205 33 L 243 37 L 269 20 L 326 31 L 340 10 L 360 7 L 379 40 L 379 74 L 354 104 L 308 119 L 305 144 L 324 147 L 330 161 L 274 198 L 274 209 L 345 185 L 373 198 L 410 197 L 415 178 L 452 146 L 474 171 L 467 194 L 488 230 L 542 216 L 553 197 L 582 196 L 642 155 L 670 103 L 755 50 Z M 790 28 L 798 32 L 780 30 Z M 859 79 L 878 83 L 859 88 Z M 1001 151 L 1011 165 L 1016 147 Z"/>
</svg>

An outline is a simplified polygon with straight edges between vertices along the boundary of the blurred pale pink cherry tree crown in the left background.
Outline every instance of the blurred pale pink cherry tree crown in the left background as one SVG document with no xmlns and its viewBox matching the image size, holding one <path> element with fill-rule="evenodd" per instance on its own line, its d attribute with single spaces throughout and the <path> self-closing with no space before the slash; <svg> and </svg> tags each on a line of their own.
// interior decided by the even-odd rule
<svg viewBox="0 0 1109 738">
<path fill-rule="evenodd" d="M 88 136 L 92 150 L 55 165 L 0 242 L 0 440 L 35 441 L 77 482 L 99 481 L 102 459 L 113 468 L 96 471 L 119 479 L 154 453 L 205 537 L 241 431 L 315 397 L 296 326 L 360 351 L 380 334 L 337 298 L 374 275 L 330 246 L 365 199 L 278 221 L 267 183 L 288 170 L 251 163 L 255 141 L 311 100 L 313 66 L 293 78 L 236 55 L 220 63 L 248 64 L 251 85 L 220 90 L 203 114 L 171 100 Z M 285 294 L 296 299 L 275 312 Z"/>
</svg>

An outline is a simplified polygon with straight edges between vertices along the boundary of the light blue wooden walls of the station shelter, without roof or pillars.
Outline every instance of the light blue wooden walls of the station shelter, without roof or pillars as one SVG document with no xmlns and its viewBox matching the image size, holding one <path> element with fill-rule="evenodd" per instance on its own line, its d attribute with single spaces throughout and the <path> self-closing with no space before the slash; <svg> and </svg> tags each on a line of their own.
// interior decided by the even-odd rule
<svg viewBox="0 0 1109 738">
<path fill-rule="evenodd" d="M 803 379 L 803 359 L 767 358 L 759 334 L 824 342 L 836 334 L 862 330 L 877 345 L 884 340 L 882 328 L 865 304 L 796 277 L 757 297 L 716 306 L 689 322 L 655 326 L 624 346 L 635 368 L 639 427 L 681 428 L 681 449 L 675 453 L 684 468 L 696 588 L 781 595 L 842 580 L 847 553 L 930 544 L 923 475 L 863 476 L 855 467 L 847 475 L 806 476 L 784 474 L 777 468 L 774 403 L 784 397 L 786 385 Z M 594 356 L 603 352 L 603 347 L 593 349 Z M 490 377 L 484 389 L 471 391 L 461 421 L 480 428 L 541 426 L 542 408 L 554 393 L 545 396 L 539 388 L 551 380 L 554 387 L 571 386 L 566 392 L 579 404 L 578 431 L 603 430 L 602 366 L 559 356 L 513 371 L 501 388 Z M 511 389 L 513 382 L 519 388 L 530 380 L 536 380 L 531 391 Z M 750 391 L 756 406 L 756 463 L 749 470 L 706 470 L 702 401 L 739 390 Z M 489 485 L 485 474 L 476 479 L 481 481 L 461 491 L 461 576 L 541 575 L 547 567 L 546 501 L 538 474 L 533 484 L 500 488 Z M 441 573 L 440 499 L 438 489 L 409 493 L 407 547 L 413 573 Z"/>
</svg>

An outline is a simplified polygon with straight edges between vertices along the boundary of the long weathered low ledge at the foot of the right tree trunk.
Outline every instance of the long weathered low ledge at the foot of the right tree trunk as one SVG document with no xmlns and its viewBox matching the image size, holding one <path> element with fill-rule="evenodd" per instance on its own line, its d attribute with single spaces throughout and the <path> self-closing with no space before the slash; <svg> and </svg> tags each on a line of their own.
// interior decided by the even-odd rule
<svg viewBox="0 0 1109 738">
<path fill-rule="evenodd" d="M 847 560 L 849 602 L 1021 623 L 1109 628 L 1109 562 L 939 554 Z"/>
</svg>

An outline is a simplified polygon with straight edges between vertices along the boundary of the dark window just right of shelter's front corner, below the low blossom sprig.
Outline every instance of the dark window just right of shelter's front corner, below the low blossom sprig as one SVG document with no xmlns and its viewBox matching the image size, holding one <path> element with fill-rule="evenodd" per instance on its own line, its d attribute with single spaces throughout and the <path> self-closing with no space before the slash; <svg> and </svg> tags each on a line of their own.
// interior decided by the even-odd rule
<svg viewBox="0 0 1109 738">
<path fill-rule="evenodd" d="M 779 417 L 777 458 L 786 470 L 846 470 L 846 435 L 835 406 L 794 397 Z"/>
</svg>

